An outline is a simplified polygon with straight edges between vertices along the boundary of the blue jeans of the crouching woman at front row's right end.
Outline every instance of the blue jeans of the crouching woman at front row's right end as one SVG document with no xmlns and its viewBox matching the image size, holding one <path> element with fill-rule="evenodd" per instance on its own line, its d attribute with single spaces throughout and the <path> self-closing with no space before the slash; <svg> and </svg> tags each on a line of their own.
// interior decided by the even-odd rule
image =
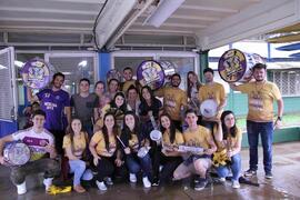
<svg viewBox="0 0 300 200">
<path fill-rule="evenodd" d="M 240 178 L 241 172 L 241 156 L 237 153 L 231 157 L 231 164 L 220 166 L 217 168 L 218 176 L 220 178 L 226 178 L 229 173 L 229 170 L 232 171 L 232 180 L 237 181 Z"/>
</svg>

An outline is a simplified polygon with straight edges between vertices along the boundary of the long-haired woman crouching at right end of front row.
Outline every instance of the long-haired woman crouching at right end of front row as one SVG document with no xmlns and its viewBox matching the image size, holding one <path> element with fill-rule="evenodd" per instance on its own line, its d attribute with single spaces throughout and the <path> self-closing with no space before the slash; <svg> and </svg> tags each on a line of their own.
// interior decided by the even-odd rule
<svg viewBox="0 0 300 200">
<path fill-rule="evenodd" d="M 219 163 L 217 171 L 221 181 L 226 181 L 229 170 L 232 171 L 232 188 L 240 188 L 239 178 L 241 172 L 241 140 L 242 132 L 236 124 L 232 111 L 227 110 L 221 114 L 219 129 L 216 132 L 217 152 L 224 151 L 229 162 Z"/>
</svg>

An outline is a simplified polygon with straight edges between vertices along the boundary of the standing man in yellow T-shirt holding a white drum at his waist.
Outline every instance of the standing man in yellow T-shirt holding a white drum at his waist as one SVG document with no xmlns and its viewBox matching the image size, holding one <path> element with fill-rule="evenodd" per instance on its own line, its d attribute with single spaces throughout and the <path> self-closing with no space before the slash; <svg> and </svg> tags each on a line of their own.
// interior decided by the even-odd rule
<svg viewBox="0 0 300 200">
<path fill-rule="evenodd" d="M 202 103 L 204 100 L 213 99 L 217 107 L 217 118 L 220 119 L 223 108 L 226 107 L 226 91 L 224 87 L 218 82 L 213 81 L 213 70 L 211 68 L 206 68 L 203 70 L 206 84 L 199 89 L 199 100 Z M 203 121 L 213 121 L 210 118 L 202 119 Z M 207 126 L 206 126 L 207 127 Z M 208 127 L 211 128 L 211 127 Z"/>
</svg>

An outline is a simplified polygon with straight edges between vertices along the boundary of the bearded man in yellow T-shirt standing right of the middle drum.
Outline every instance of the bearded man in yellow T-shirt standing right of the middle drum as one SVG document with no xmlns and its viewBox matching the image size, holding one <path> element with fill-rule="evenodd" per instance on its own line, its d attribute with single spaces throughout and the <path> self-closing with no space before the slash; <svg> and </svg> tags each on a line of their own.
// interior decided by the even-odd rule
<svg viewBox="0 0 300 200">
<path fill-rule="evenodd" d="M 182 131 L 181 128 L 181 109 L 187 108 L 187 92 L 179 88 L 181 82 L 181 77 L 178 73 L 171 77 L 171 87 L 163 87 L 158 90 L 156 94 L 163 98 L 163 110 L 170 114 L 176 128 Z"/>
</svg>

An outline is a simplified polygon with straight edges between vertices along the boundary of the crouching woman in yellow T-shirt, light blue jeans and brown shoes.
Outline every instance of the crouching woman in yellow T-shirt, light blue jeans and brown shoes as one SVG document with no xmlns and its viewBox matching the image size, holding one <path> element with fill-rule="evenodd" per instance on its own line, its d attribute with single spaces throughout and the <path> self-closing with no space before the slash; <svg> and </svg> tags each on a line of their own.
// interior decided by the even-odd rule
<svg viewBox="0 0 300 200">
<path fill-rule="evenodd" d="M 80 180 L 91 180 L 92 172 L 87 168 L 84 159 L 87 152 L 87 143 L 89 142 L 87 132 L 82 131 L 81 121 L 77 118 L 72 119 L 71 126 L 63 137 L 64 153 L 69 159 L 70 172 L 74 173 L 73 190 L 81 193 L 86 189 L 80 184 Z"/>
</svg>

